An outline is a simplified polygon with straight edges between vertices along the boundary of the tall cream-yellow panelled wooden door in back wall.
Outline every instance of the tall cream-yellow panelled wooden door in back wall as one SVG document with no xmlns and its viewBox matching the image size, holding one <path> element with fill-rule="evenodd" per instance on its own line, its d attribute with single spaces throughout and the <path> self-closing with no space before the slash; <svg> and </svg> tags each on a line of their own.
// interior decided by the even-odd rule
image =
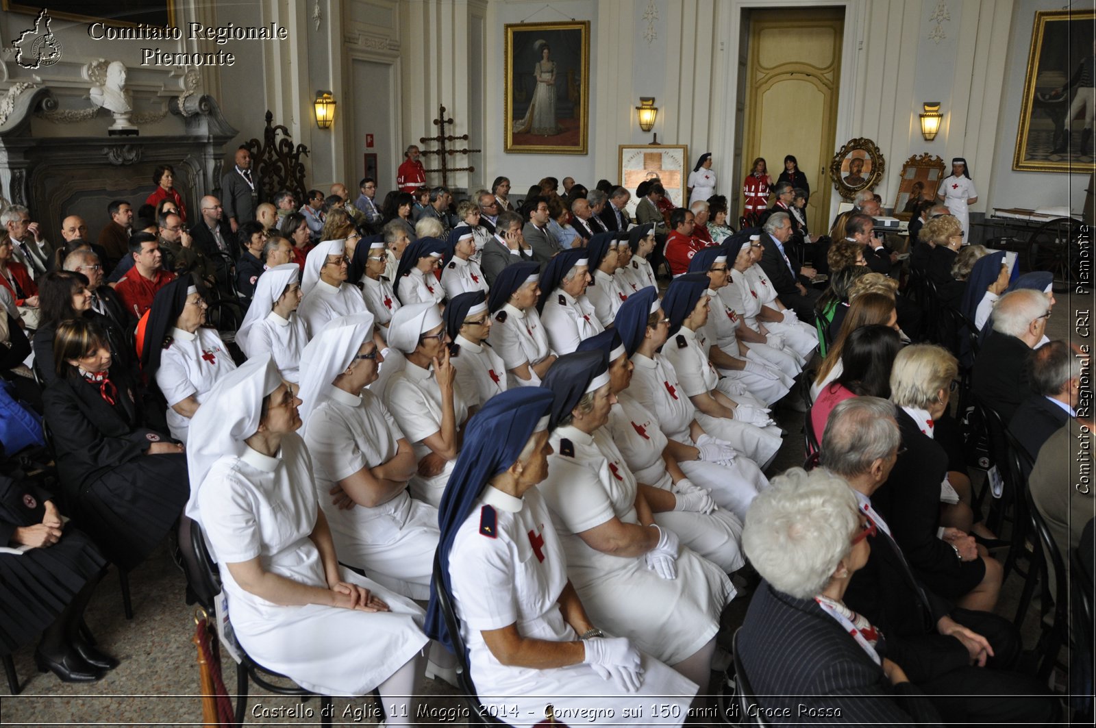
<svg viewBox="0 0 1096 728">
<path fill-rule="evenodd" d="M 843 8 L 750 13 L 742 177 L 754 158 L 764 157 L 776 181 L 784 157 L 796 157 L 811 185 L 807 224 L 812 235 L 830 229 L 833 185 L 825 168 L 836 149 L 844 16 Z"/>
</svg>

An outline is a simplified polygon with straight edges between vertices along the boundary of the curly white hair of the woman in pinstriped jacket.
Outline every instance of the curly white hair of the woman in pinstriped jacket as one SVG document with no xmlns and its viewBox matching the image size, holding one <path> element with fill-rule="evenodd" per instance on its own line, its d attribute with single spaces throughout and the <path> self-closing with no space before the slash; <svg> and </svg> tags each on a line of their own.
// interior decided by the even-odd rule
<svg viewBox="0 0 1096 728">
<path fill-rule="evenodd" d="M 845 480 L 823 468 L 791 468 L 750 504 L 742 548 L 774 589 L 811 599 L 852 550 L 857 523 L 856 496 Z"/>
</svg>

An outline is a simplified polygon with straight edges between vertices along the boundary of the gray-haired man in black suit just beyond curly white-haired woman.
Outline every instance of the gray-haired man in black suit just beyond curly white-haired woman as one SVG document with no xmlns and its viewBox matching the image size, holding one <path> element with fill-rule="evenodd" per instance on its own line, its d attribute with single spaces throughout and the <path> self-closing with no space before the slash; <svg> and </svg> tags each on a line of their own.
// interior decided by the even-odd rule
<svg viewBox="0 0 1096 728">
<path fill-rule="evenodd" d="M 989 612 L 952 608 L 925 588 L 872 505 L 899 458 L 894 411 L 877 397 L 848 399 L 831 412 L 822 435 L 822 467 L 849 484 L 877 530 L 845 604 L 887 636 L 890 659 L 945 723 L 1049 724 L 1057 705 L 1046 685 L 1014 671 L 1021 645 L 1013 625 Z"/>
</svg>

